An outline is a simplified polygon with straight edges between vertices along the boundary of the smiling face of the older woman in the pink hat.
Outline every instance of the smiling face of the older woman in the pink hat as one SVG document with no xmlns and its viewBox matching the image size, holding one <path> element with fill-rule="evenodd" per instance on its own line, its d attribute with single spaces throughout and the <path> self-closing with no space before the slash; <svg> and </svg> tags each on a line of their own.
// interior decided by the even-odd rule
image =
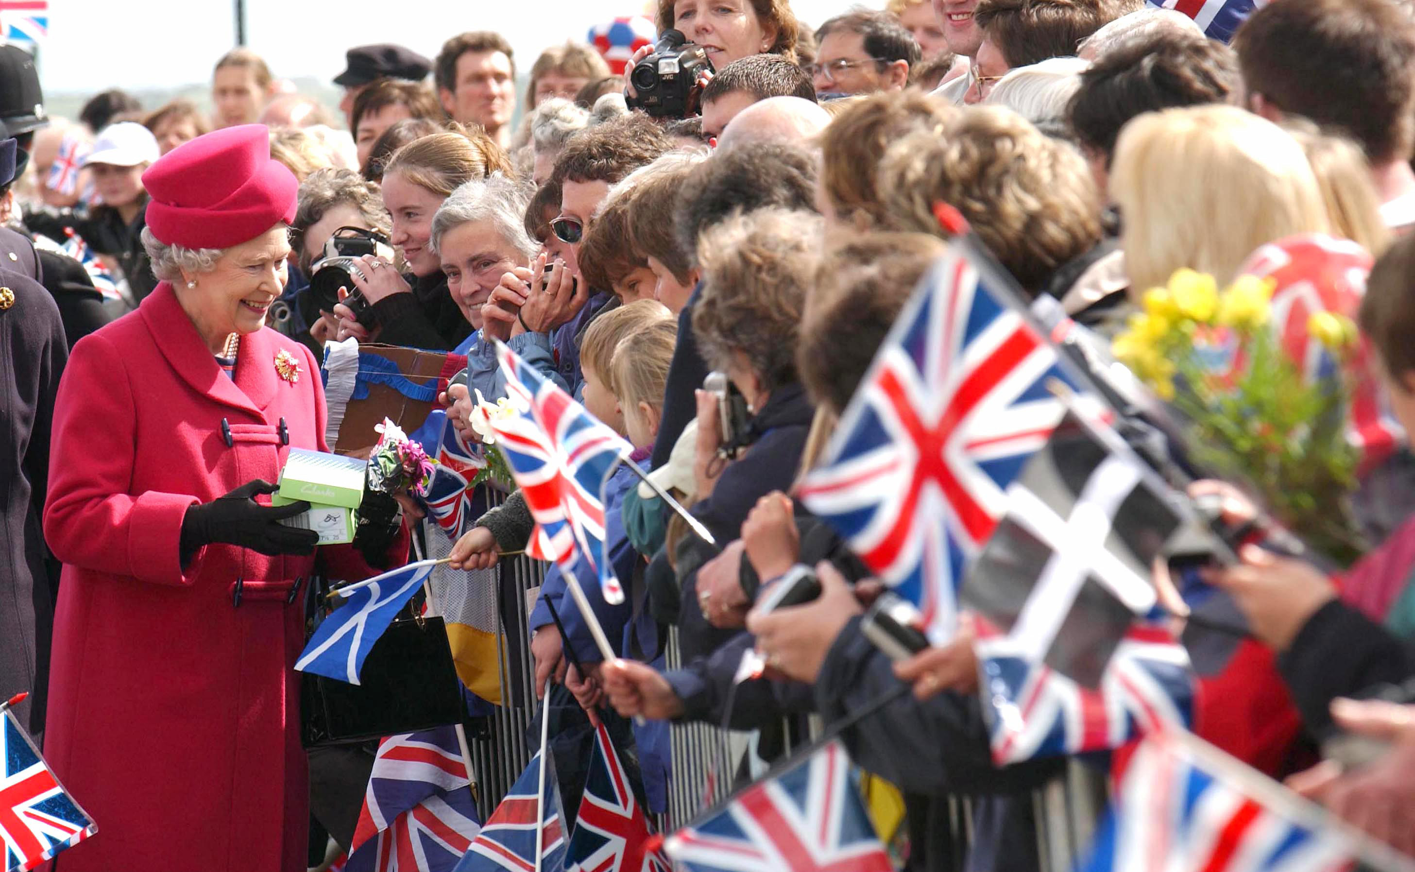
<svg viewBox="0 0 1415 872">
<path fill-rule="evenodd" d="M 211 272 L 184 272 L 183 280 L 173 285 L 177 302 L 212 352 L 232 333 L 243 335 L 265 327 L 270 304 L 284 290 L 289 236 L 289 228 L 277 224 L 250 242 L 221 252 Z M 195 282 L 195 287 L 188 287 L 188 282 Z"/>
</svg>

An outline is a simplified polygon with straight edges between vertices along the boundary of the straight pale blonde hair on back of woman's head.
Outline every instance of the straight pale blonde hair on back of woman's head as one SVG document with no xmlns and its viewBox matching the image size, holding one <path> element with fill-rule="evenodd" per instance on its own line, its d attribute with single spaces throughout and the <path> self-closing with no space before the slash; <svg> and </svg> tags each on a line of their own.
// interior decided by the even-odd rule
<svg viewBox="0 0 1415 872">
<path fill-rule="evenodd" d="M 1302 146 L 1234 106 L 1142 115 L 1111 167 L 1131 294 L 1190 268 L 1230 282 L 1265 242 L 1332 229 Z"/>
</svg>

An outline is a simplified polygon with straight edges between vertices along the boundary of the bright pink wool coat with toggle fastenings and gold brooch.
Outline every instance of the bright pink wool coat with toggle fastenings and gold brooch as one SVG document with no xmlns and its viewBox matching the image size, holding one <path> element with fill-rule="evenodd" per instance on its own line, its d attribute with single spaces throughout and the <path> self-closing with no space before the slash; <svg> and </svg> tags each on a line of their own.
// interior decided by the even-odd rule
<svg viewBox="0 0 1415 872">
<path fill-rule="evenodd" d="M 64 562 L 45 755 L 98 834 L 64 872 L 306 868 L 303 596 L 287 600 L 316 558 L 208 545 L 183 569 L 178 537 L 188 505 L 276 481 L 289 447 L 325 450 L 324 416 L 308 350 L 245 335 L 232 381 L 166 282 L 74 348 L 44 512 Z M 350 546 L 320 559 L 335 579 L 372 572 Z"/>
</svg>

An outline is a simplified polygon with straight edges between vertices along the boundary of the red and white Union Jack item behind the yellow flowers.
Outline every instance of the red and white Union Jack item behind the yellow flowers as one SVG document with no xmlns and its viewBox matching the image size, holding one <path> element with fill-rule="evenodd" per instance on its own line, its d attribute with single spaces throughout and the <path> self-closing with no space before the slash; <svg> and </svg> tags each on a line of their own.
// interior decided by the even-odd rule
<svg viewBox="0 0 1415 872">
<path fill-rule="evenodd" d="M 1307 320 L 1319 311 L 1356 317 L 1373 265 L 1370 252 L 1356 242 L 1305 234 L 1264 245 L 1240 272 L 1275 282 L 1272 327 L 1288 357 L 1315 379 L 1334 375 L 1339 364 L 1312 337 Z M 1388 457 L 1405 437 L 1373 374 L 1373 364 L 1370 344 L 1363 340 L 1347 364 L 1354 377 L 1350 440 L 1361 450 L 1363 470 Z"/>
</svg>

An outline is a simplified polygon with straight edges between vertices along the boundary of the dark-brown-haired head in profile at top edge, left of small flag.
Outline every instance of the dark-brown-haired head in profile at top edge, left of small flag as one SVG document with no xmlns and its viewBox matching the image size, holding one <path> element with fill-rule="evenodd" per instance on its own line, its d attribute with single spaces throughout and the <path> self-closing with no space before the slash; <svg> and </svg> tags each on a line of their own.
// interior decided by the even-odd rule
<svg viewBox="0 0 1415 872">
<path fill-rule="evenodd" d="M 1121 0 L 978 0 L 982 30 L 974 86 L 965 103 L 981 103 L 1009 69 L 1074 57 L 1081 42 L 1118 18 Z"/>
</svg>

